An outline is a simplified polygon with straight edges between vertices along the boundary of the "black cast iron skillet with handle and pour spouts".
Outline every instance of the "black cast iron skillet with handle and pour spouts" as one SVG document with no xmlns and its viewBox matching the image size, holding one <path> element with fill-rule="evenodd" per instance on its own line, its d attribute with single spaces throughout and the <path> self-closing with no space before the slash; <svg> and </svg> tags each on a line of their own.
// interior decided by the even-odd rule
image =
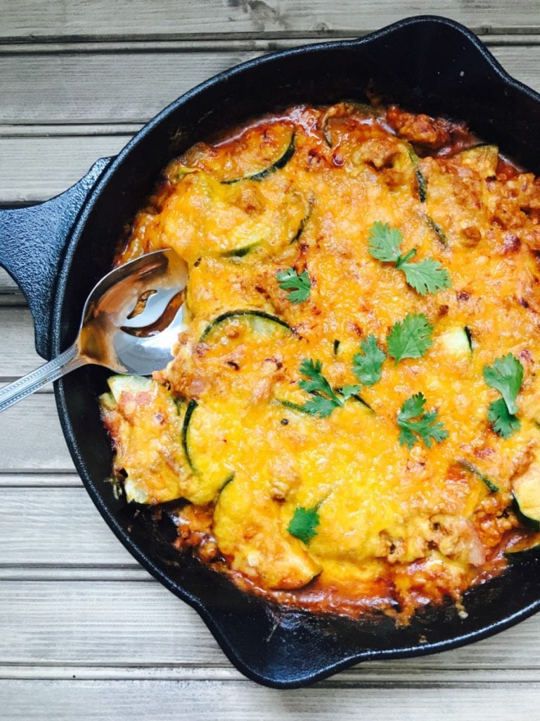
<svg viewBox="0 0 540 721">
<path fill-rule="evenodd" d="M 176 100 L 120 155 L 96 162 L 66 193 L 0 214 L 0 264 L 27 296 L 38 352 L 49 358 L 73 341 L 84 298 L 110 269 L 122 226 L 171 157 L 279 107 L 364 99 L 369 81 L 411 110 L 468 120 L 480 137 L 540 173 L 540 95 L 505 74 L 477 37 L 450 20 L 410 18 L 360 40 L 243 63 Z M 116 500 L 104 483 L 112 451 L 96 395 L 106 377 L 103 369 L 83 368 L 56 386 L 63 431 L 86 489 L 125 547 L 197 610 L 232 663 L 254 681 L 292 688 L 361 660 L 434 653 L 489 636 L 540 608 L 534 561 L 469 591 L 467 618 L 449 604 L 397 628 L 382 615 L 353 621 L 279 609 L 190 557 L 175 558 L 166 543 L 171 528 Z"/>
</svg>

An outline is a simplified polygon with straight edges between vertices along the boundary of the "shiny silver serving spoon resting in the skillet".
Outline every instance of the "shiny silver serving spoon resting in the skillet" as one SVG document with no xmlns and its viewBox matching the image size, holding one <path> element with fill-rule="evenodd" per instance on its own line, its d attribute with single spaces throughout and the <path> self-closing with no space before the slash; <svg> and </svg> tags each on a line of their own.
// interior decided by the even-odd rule
<svg viewBox="0 0 540 721">
<path fill-rule="evenodd" d="M 163 370 L 184 327 L 186 282 L 186 262 L 172 249 L 147 253 L 104 275 L 86 298 L 77 340 L 1 388 L 0 412 L 89 363 L 139 376 Z"/>
</svg>

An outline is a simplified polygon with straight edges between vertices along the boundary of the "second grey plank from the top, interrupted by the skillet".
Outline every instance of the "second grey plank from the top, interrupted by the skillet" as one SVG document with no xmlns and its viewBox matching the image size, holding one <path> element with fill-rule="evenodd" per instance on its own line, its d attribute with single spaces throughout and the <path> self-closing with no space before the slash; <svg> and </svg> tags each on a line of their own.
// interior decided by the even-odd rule
<svg viewBox="0 0 540 721">
<path fill-rule="evenodd" d="M 492 50 L 510 74 L 540 89 L 540 45 Z M 260 54 L 0 57 L 0 123 L 141 123 L 197 83 Z"/>
</svg>

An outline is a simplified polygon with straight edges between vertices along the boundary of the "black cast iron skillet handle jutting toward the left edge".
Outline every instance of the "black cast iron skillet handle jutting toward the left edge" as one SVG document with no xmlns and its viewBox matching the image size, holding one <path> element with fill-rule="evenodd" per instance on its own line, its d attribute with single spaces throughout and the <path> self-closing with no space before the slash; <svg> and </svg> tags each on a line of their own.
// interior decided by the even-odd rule
<svg viewBox="0 0 540 721">
<path fill-rule="evenodd" d="M 27 298 L 35 347 L 49 358 L 50 316 L 63 252 L 86 198 L 112 158 L 101 158 L 76 185 L 45 203 L 0 211 L 0 265 Z"/>
</svg>

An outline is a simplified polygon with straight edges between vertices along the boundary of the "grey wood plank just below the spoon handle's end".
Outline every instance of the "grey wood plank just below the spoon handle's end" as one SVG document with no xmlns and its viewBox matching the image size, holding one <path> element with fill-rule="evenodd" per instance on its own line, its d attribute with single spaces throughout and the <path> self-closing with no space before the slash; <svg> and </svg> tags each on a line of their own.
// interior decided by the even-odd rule
<svg viewBox="0 0 540 721">
<path fill-rule="evenodd" d="M 0 473 L 71 472 L 52 394 L 35 394 L 0 413 Z"/>
</svg>

